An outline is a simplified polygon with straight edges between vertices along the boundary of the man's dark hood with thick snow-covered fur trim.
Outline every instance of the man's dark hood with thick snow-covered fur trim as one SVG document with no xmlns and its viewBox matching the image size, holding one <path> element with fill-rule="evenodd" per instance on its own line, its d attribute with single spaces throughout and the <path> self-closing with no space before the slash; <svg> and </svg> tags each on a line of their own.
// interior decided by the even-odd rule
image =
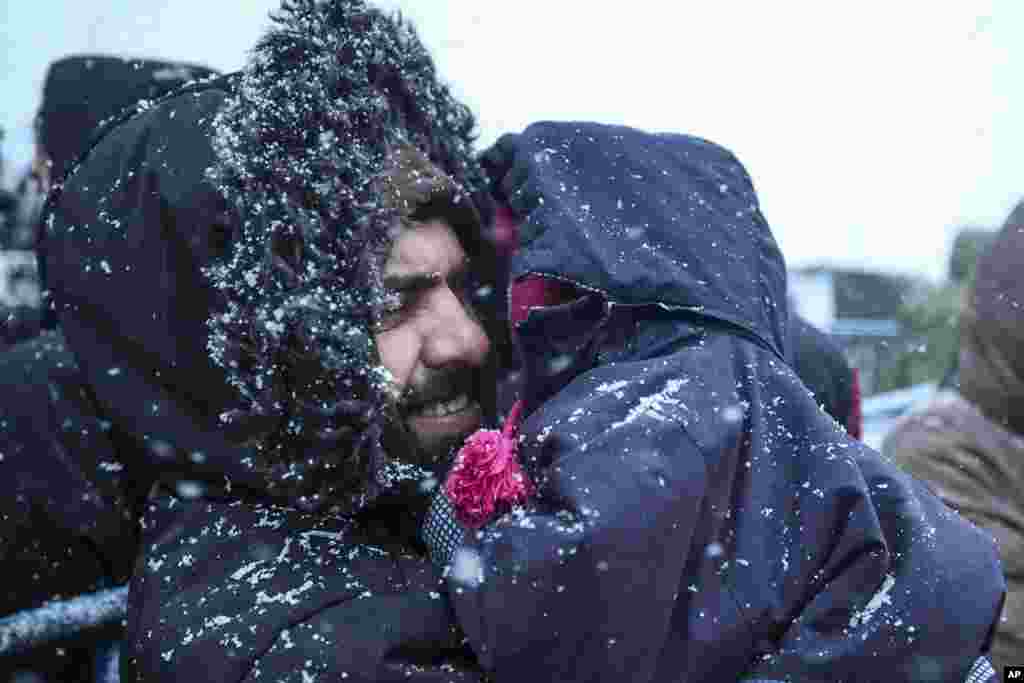
<svg viewBox="0 0 1024 683">
<path fill-rule="evenodd" d="M 476 239 L 473 129 L 413 30 L 361 0 L 285 0 L 242 73 L 112 126 L 51 203 L 47 261 L 116 428 L 162 472 L 307 509 L 408 472 L 382 447 L 380 271 L 438 191 Z"/>
</svg>

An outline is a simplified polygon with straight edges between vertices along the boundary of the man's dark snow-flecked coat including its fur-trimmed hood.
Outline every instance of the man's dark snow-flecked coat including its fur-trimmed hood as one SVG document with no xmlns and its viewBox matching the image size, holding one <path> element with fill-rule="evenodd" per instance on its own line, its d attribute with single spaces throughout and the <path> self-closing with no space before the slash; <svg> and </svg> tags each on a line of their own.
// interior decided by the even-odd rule
<svg viewBox="0 0 1024 683">
<path fill-rule="evenodd" d="M 124 680 L 477 677 L 410 425 L 487 400 L 461 368 L 411 401 L 379 343 L 474 291 L 387 282 L 413 224 L 482 253 L 473 125 L 407 25 L 297 0 L 243 73 L 104 128 L 48 205 L 62 335 L 7 360 L 5 610 L 131 577 Z"/>
</svg>

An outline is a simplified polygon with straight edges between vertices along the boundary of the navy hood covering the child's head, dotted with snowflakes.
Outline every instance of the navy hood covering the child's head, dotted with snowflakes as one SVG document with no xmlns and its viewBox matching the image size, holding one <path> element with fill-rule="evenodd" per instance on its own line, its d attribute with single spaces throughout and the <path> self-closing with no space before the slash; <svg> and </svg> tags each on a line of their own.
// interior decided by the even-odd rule
<svg viewBox="0 0 1024 683">
<path fill-rule="evenodd" d="M 523 217 L 512 278 L 568 280 L 612 303 L 685 309 L 785 353 L 785 264 L 746 171 L 696 137 L 538 123 L 502 138 Z M 752 273 L 754 273 L 752 275 Z"/>
</svg>

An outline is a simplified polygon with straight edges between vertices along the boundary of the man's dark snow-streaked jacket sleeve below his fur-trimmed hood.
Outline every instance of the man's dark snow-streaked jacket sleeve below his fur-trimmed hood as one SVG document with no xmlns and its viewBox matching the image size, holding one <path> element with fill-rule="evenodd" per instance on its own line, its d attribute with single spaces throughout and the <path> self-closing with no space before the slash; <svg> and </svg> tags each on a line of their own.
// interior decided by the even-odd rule
<svg viewBox="0 0 1024 683">
<path fill-rule="evenodd" d="M 123 680 L 480 680 L 425 558 L 281 508 L 164 499 L 144 519 Z"/>
</svg>

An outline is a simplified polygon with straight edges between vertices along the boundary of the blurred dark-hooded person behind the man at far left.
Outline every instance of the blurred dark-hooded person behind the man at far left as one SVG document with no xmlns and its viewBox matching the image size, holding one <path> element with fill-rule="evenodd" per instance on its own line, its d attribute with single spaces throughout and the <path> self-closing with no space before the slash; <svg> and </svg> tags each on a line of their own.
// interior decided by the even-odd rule
<svg viewBox="0 0 1024 683">
<path fill-rule="evenodd" d="M 206 67 L 96 54 L 72 55 L 49 66 L 36 116 L 36 155 L 18 185 L 17 211 L 0 254 L 0 344 L 13 345 L 56 324 L 42 310 L 36 252 L 45 236 L 39 214 L 47 194 L 86 154 L 106 120 L 140 100 L 156 100 L 181 85 L 216 76 Z"/>
</svg>

